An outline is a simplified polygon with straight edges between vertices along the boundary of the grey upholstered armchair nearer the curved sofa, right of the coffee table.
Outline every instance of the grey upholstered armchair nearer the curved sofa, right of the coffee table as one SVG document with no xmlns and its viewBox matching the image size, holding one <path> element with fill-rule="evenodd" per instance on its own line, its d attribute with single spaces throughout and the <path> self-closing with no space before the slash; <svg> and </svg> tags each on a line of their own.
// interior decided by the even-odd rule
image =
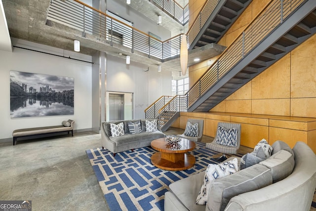
<svg viewBox="0 0 316 211">
<path fill-rule="evenodd" d="M 222 127 L 226 128 L 226 129 L 231 129 L 231 128 L 234 128 L 234 127 L 237 128 L 237 145 L 236 146 L 227 146 L 227 145 L 219 144 L 219 143 L 216 142 L 217 138 L 219 137 L 218 136 L 218 134 L 219 134 L 218 127 L 219 126 L 222 126 Z M 239 146 L 240 146 L 240 134 L 241 134 L 241 125 L 240 124 L 235 124 L 235 123 L 218 123 L 215 138 L 214 138 L 213 142 L 206 143 L 206 147 L 211 149 L 211 150 L 214 150 L 216 152 L 223 153 L 223 155 L 219 158 L 219 160 L 221 160 L 221 161 L 226 160 L 227 157 L 226 157 L 225 153 L 227 153 L 227 154 L 237 154 L 237 151 L 238 151 Z"/>
</svg>

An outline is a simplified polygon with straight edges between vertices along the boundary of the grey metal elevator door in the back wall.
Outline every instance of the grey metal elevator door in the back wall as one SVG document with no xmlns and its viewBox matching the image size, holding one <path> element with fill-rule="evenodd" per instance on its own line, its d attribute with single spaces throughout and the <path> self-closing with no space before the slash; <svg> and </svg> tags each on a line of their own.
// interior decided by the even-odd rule
<svg viewBox="0 0 316 211">
<path fill-rule="evenodd" d="M 109 118 L 124 120 L 124 94 L 109 94 Z"/>
</svg>

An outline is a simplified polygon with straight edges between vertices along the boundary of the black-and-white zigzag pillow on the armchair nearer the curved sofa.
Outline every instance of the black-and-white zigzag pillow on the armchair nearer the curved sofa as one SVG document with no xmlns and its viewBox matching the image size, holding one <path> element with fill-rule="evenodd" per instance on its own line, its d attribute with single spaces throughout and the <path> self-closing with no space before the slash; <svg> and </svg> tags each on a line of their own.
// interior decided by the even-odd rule
<svg viewBox="0 0 316 211">
<path fill-rule="evenodd" d="M 218 126 L 217 131 L 216 143 L 231 147 L 237 146 L 237 127 L 226 129 L 225 127 Z"/>
</svg>

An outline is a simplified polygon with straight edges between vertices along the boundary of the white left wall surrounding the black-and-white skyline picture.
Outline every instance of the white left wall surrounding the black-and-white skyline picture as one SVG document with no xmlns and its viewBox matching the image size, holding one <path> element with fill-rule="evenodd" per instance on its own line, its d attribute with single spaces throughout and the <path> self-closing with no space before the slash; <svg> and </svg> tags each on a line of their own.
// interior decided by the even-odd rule
<svg viewBox="0 0 316 211">
<path fill-rule="evenodd" d="M 47 51 L 72 58 L 91 61 L 91 56 L 64 52 L 33 42 L 13 40 L 13 45 Z M 75 120 L 75 130 L 91 128 L 91 64 L 47 55 L 40 52 L 13 48 L 13 52 L 0 50 L 0 139 L 11 138 L 12 131 L 19 128 L 61 125 L 63 120 Z M 72 77 L 75 82 L 74 115 L 10 118 L 10 70 Z"/>
</svg>

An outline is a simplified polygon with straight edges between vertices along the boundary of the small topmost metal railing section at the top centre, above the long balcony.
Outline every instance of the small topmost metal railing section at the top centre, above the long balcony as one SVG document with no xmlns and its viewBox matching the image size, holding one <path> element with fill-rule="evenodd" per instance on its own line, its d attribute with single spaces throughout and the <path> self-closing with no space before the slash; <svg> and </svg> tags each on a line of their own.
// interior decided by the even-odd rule
<svg viewBox="0 0 316 211">
<path fill-rule="evenodd" d="M 189 4 L 184 7 L 175 0 L 150 0 L 163 12 L 168 14 L 181 25 L 186 25 L 189 21 Z"/>
</svg>

